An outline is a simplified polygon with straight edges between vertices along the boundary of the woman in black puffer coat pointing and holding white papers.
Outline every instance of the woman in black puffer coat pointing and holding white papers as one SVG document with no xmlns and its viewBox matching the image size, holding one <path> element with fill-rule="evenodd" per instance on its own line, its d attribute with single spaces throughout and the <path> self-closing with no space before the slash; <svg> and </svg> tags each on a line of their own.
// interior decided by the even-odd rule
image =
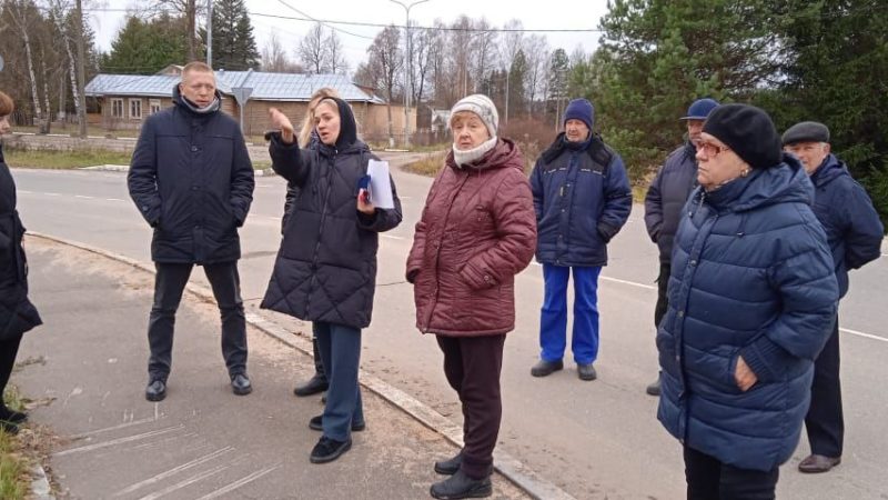
<svg viewBox="0 0 888 500">
<path fill-rule="evenodd" d="M 357 370 L 361 329 L 370 324 L 376 282 L 379 233 L 401 223 L 401 202 L 375 208 L 359 197 L 359 181 L 374 157 L 357 139 L 351 107 L 339 98 L 315 108 L 321 143 L 301 149 L 293 124 L 276 109 L 271 134 L 272 168 L 300 189 L 284 227 L 262 308 L 312 322 L 330 381 L 324 413 L 309 422 L 323 436 L 313 463 L 337 459 L 352 446 L 351 432 L 364 429 Z"/>
</svg>

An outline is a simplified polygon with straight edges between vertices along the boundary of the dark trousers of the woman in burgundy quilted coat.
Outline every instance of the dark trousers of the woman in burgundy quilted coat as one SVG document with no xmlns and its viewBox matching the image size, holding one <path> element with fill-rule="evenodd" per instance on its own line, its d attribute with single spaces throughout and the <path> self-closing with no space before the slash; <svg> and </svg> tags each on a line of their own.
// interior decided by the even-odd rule
<svg viewBox="0 0 888 500">
<path fill-rule="evenodd" d="M 463 406 L 463 464 L 466 476 L 486 478 L 493 470 L 493 449 L 500 436 L 503 400 L 500 372 L 506 336 L 444 337 L 444 376 Z"/>
</svg>

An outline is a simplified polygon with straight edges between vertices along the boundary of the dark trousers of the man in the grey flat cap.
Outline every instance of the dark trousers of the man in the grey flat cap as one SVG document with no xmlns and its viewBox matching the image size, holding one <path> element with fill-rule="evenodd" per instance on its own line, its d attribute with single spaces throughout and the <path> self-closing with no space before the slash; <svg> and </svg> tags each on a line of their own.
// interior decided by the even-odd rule
<svg viewBox="0 0 888 500">
<path fill-rule="evenodd" d="M 841 457 L 845 441 L 845 417 L 841 411 L 841 381 L 839 380 L 839 318 L 824 350 L 814 362 L 811 406 L 805 416 L 805 429 L 811 443 L 811 453 Z"/>
</svg>

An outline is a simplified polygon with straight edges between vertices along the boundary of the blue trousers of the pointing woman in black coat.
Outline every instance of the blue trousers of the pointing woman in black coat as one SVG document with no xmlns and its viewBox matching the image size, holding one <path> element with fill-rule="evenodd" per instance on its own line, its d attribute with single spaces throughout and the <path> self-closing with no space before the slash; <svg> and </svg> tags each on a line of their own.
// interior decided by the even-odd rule
<svg viewBox="0 0 888 500">
<path fill-rule="evenodd" d="M 330 382 L 323 414 L 324 436 L 345 441 L 352 433 L 352 422 L 364 421 L 361 387 L 357 384 L 361 330 L 322 321 L 313 322 L 312 330 Z"/>
</svg>

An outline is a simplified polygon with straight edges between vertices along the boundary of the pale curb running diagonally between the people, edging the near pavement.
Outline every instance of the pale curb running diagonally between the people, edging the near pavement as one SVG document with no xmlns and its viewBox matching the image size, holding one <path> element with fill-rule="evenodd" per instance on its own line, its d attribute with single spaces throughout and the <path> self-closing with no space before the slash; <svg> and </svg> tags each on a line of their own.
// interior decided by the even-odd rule
<svg viewBox="0 0 888 500">
<path fill-rule="evenodd" d="M 47 241 L 64 244 L 67 247 L 77 248 L 91 253 L 94 253 L 107 259 L 111 259 L 128 266 L 131 266 L 141 271 L 154 273 L 154 268 L 145 262 L 131 259 L 119 253 L 114 253 L 98 247 L 93 247 L 79 241 L 68 240 L 64 238 L 44 234 L 40 232 L 28 231 L 29 237 L 40 238 Z M 189 282 L 185 286 L 192 296 L 208 303 L 215 303 L 213 292 L 206 287 Z M 274 338 L 281 343 L 299 350 L 304 354 L 312 356 L 311 341 L 295 336 L 293 332 L 287 331 L 274 322 L 263 318 L 255 312 L 245 313 L 246 322 L 261 332 Z M 463 446 L 463 428 L 453 423 L 450 419 L 438 413 L 431 407 L 422 401 L 413 398 L 406 392 L 390 386 L 382 379 L 367 374 L 362 370 L 361 386 L 373 392 L 374 394 L 383 398 L 392 403 L 395 408 L 412 417 L 428 429 L 437 432 L 451 443 L 461 447 Z M 535 471 L 526 467 L 521 460 L 514 458 L 508 452 L 500 449 L 494 453 L 494 469 L 503 477 L 508 479 L 512 483 L 524 490 L 531 498 L 535 500 L 576 500 L 566 491 L 557 486 L 548 482 L 537 474 Z"/>
</svg>

